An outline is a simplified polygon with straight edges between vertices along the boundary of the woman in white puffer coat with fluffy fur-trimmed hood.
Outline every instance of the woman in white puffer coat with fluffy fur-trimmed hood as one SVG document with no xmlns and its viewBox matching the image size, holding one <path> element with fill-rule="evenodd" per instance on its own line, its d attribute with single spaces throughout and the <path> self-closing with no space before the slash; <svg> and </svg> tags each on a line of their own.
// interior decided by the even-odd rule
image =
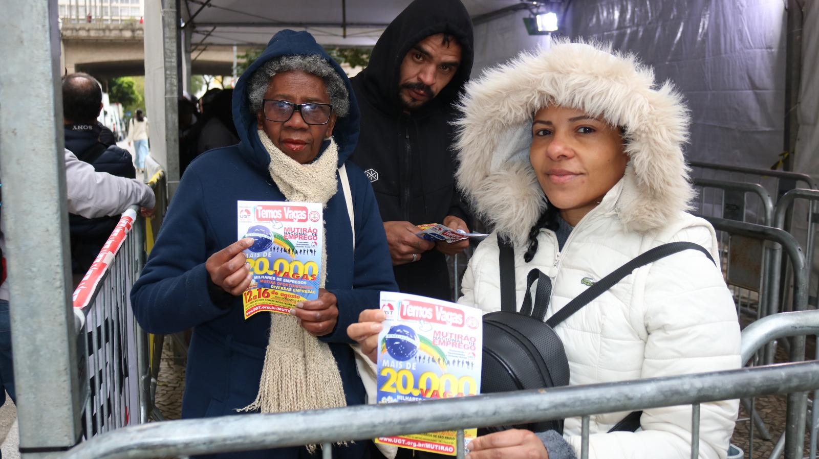
<svg viewBox="0 0 819 459">
<path fill-rule="evenodd" d="M 655 246 L 691 241 L 719 259 L 713 227 L 686 213 L 694 195 L 681 150 L 686 108 L 672 85 L 655 85 L 653 71 L 634 56 L 559 42 L 487 70 L 468 84 L 460 105 L 456 177 L 494 232 L 469 262 L 459 303 L 500 310 L 498 237 L 514 244 L 518 308 L 532 269 L 550 277 L 546 318 Z M 563 112 L 554 110 L 581 116 L 560 118 Z M 590 136 L 604 131 L 618 137 L 621 169 L 616 160 L 600 169 L 616 174 L 600 199 L 568 209 L 575 195 L 601 186 L 593 173 L 583 177 L 590 164 L 583 160 L 595 154 Z M 572 180 L 587 182 L 559 195 Z M 555 196 L 552 204 L 546 194 Z M 568 354 L 571 385 L 740 367 L 733 299 L 720 269 L 697 250 L 636 269 L 555 331 Z M 737 408 L 735 400 L 702 405 L 699 457 L 726 457 Z M 591 416 L 590 457 L 690 457 L 690 406 L 645 410 L 641 430 L 607 433 L 626 415 Z M 514 435 L 509 432 L 500 434 Z M 540 434 L 543 443 L 535 447 L 545 444 L 552 459 L 579 457 L 580 434 L 580 419 L 567 419 L 562 438 Z M 474 443 L 476 457 L 492 448 L 482 439 Z"/>
</svg>

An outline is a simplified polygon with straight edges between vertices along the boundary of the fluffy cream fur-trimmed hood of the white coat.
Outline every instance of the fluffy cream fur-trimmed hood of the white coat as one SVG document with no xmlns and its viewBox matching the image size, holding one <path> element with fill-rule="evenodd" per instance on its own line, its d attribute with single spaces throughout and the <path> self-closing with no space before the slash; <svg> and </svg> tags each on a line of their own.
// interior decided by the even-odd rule
<svg viewBox="0 0 819 459">
<path fill-rule="evenodd" d="M 688 110 L 672 84 L 657 86 L 651 68 L 610 46 L 558 41 L 486 70 L 459 101 L 455 177 L 501 236 L 523 244 L 548 205 L 529 163 L 532 116 L 548 104 L 624 128 L 629 162 L 616 209 L 628 231 L 651 232 L 689 209 Z"/>
</svg>

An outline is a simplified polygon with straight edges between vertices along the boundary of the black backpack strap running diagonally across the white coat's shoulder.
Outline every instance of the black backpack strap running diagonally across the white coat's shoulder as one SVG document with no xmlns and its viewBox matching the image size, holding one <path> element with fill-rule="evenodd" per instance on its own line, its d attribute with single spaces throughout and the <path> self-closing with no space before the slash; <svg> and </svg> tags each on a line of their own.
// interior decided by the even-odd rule
<svg viewBox="0 0 819 459">
<path fill-rule="evenodd" d="M 647 250 L 645 253 L 638 255 L 635 259 L 632 259 L 630 262 L 622 265 L 620 268 L 617 268 L 609 274 L 608 276 L 600 279 L 597 281 L 595 285 L 590 286 L 586 291 L 577 295 L 575 299 L 569 301 L 568 304 L 563 306 L 554 316 L 549 317 L 549 320 L 546 321 L 546 325 L 554 328 L 558 326 L 560 322 L 563 322 L 568 317 L 570 317 L 573 313 L 577 313 L 583 306 L 586 306 L 592 299 L 597 298 L 598 296 L 602 295 L 604 291 L 609 290 L 614 286 L 614 284 L 618 283 L 622 280 L 623 277 L 628 276 L 634 271 L 636 268 L 640 268 L 641 266 L 645 266 L 646 264 L 653 263 L 658 259 L 662 259 L 663 257 L 667 257 L 670 254 L 676 254 L 677 252 L 681 252 L 682 250 L 699 250 L 700 252 L 704 253 L 705 256 L 708 257 L 712 262 L 714 261 L 713 257 L 708 250 L 702 245 L 695 244 L 693 242 L 687 241 L 680 241 L 680 242 L 669 242 L 668 244 L 663 244 L 658 247 L 654 247 L 654 249 Z M 716 263 L 716 262 L 714 262 Z"/>
</svg>

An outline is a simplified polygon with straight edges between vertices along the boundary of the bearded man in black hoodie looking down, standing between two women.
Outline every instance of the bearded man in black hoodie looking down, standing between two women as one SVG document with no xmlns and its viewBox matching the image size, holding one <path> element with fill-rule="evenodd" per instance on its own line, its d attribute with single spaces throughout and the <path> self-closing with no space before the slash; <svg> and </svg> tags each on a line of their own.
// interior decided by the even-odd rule
<svg viewBox="0 0 819 459">
<path fill-rule="evenodd" d="M 393 271 L 405 293 L 451 299 L 446 254 L 467 241 L 432 243 L 415 225 L 468 232 L 450 146 L 456 101 L 473 63 L 472 20 L 460 0 L 415 0 L 384 30 L 352 79 L 361 134 L 351 156 L 373 185 Z"/>
</svg>

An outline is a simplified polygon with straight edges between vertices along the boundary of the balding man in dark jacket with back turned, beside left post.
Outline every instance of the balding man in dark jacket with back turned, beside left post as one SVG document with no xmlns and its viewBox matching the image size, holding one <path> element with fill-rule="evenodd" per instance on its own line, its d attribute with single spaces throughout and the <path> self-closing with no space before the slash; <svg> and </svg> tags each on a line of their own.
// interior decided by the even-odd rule
<svg viewBox="0 0 819 459">
<path fill-rule="evenodd" d="M 79 160 L 93 165 L 97 172 L 136 177 L 131 154 L 116 146 L 111 130 L 97 122 L 102 110 L 102 87 L 97 79 L 84 73 L 66 75 L 62 79 L 62 110 L 66 149 Z M 88 271 L 119 221 L 119 216 L 69 215 L 71 272 L 75 277 L 82 277 Z"/>
</svg>

